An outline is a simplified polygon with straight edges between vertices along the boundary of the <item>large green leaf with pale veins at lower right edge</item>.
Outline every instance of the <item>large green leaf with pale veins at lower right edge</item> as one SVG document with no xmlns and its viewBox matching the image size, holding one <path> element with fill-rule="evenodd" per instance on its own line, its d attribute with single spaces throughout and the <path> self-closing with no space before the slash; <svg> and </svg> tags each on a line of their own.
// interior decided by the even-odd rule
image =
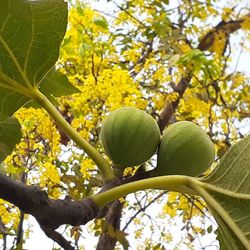
<svg viewBox="0 0 250 250">
<path fill-rule="evenodd" d="M 219 224 L 222 249 L 250 249 L 250 136 L 232 146 L 216 169 L 201 180 L 202 188 L 214 199 L 209 205 Z"/>
</svg>

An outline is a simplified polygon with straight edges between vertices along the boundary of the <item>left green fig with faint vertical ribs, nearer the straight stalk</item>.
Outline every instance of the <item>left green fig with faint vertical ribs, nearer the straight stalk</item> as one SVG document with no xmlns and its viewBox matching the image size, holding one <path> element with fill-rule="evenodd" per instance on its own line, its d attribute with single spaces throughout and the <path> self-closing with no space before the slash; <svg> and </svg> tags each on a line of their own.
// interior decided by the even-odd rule
<svg viewBox="0 0 250 250">
<path fill-rule="evenodd" d="M 113 111 L 105 119 L 100 139 L 113 163 L 125 168 L 150 159 L 160 143 L 160 130 L 146 112 L 124 107 Z"/>
</svg>

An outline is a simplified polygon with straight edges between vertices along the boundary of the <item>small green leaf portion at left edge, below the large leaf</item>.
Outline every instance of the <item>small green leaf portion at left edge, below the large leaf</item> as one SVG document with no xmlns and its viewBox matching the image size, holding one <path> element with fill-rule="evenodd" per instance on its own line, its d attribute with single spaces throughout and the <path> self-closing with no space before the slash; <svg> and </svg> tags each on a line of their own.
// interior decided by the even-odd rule
<svg viewBox="0 0 250 250">
<path fill-rule="evenodd" d="M 21 126 L 14 117 L 0 121 L 0 162 L 12 153 L 22 137 Z"/>
</svg>

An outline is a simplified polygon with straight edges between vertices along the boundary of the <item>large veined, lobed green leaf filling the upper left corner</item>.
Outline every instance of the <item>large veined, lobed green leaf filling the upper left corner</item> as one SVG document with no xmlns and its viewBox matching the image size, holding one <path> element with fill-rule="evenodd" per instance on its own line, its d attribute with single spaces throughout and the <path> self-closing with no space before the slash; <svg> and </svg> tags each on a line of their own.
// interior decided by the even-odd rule
<svg viewBox="0 0 250 250">
<path fill-rule="evenodd" d="M 0 1 L 0 120 L 31 101 L 40 85 L 49 99 L 78 90 L 51 69 L 67 26 L 64 0 Z"/>
</svg>

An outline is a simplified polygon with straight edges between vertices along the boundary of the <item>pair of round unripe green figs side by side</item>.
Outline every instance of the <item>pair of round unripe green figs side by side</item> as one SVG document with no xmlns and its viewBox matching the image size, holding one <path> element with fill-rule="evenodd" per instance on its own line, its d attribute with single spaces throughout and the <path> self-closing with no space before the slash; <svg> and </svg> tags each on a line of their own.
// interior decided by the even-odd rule
<svg viewBox="0 0 250 250">
<path fill-rule="evenodd" d="M 158 149 L 155 175 L 198 176 L 215 157 L 212 141 L 196 124 L 176 122 L 161 137 L 156 121 L 133 107 L 113 111 L 103 123 L 100 138 L 106 154 L 121 169 L 146 162 Z"/>
</svg>

